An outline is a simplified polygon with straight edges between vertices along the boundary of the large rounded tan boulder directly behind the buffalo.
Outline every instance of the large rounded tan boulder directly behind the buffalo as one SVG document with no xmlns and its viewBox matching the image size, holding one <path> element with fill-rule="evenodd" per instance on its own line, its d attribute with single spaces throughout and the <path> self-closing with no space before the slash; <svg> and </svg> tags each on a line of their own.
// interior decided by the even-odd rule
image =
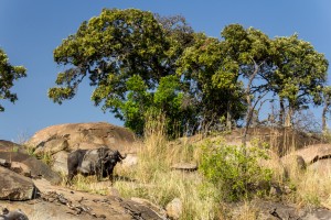
<svg viewBox="0 0 331 220">
<path fill-rule="evenodd" d="M 26 145 L 33 146 L 36 152 L 50 151 L 49 148 L 57 151 L 66 146 L 67 151 L 98 148 L 100 145 L 122 152 L 125 148 L 131 148 L 135 142 L 136 136 L 128 129 L 106 122 L 95 122 L 57 124 L 45 128 L 36 132 L 26 142 Z M 56 151 L 53 152 L 56 153 Z"/>
</svg>

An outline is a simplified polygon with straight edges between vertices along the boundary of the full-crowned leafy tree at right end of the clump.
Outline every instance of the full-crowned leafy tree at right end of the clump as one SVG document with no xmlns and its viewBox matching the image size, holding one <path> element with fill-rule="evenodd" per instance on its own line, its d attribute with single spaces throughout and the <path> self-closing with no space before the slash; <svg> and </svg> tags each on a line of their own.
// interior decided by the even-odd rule
<svg viewBox="0 0 331 220">
<path fill-rule="evenodd" d="M 323 54 L 297 34 L 276 37 L 271 53 L 275 70 L 266 79 L 270 90 L 279 96 L 280 124 L 290 127 L 295 111 L 309 103 L 321 103 L 329 64 Z"/>
</svg>

